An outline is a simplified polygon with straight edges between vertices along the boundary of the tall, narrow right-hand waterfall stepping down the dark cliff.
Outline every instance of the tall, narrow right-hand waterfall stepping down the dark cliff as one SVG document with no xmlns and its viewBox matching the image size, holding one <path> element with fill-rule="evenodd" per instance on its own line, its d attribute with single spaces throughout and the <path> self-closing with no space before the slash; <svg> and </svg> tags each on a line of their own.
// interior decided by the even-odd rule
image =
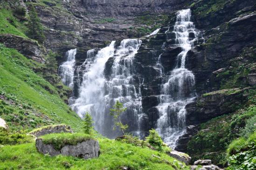
<svg viewBox="0 0 256 170">
<path fill-rule="evenodd" d="M 158 66 L 161 69 L 162 78 L 161 95 L 159 97 L 159 119 L 157 121 L 157 130 L 160 136 L 173 149 L 179 136 L 185 133 L 186 109 L 185 106 L 192 102 L 195 96 L 194 75 L 185 68 L 187 52 L 193 47 L 197 40 L 199 32 L 191 22 L 190 9 L 180 10 L 177 13 L 173 33 L 176 35 L 174 47 L 181 47 L 182 51 L 177 55 L 175 68 L 164 75 L 159 55 Z M 169 31 L 170 27 L 168 27 Z M 190 38 L 189 34 L 194 34 L 195 38 Z M 167 37 L 168 39 L 168 37 Z M 165 48 L 163 44 L 162 48 Z"/>
</svg>

